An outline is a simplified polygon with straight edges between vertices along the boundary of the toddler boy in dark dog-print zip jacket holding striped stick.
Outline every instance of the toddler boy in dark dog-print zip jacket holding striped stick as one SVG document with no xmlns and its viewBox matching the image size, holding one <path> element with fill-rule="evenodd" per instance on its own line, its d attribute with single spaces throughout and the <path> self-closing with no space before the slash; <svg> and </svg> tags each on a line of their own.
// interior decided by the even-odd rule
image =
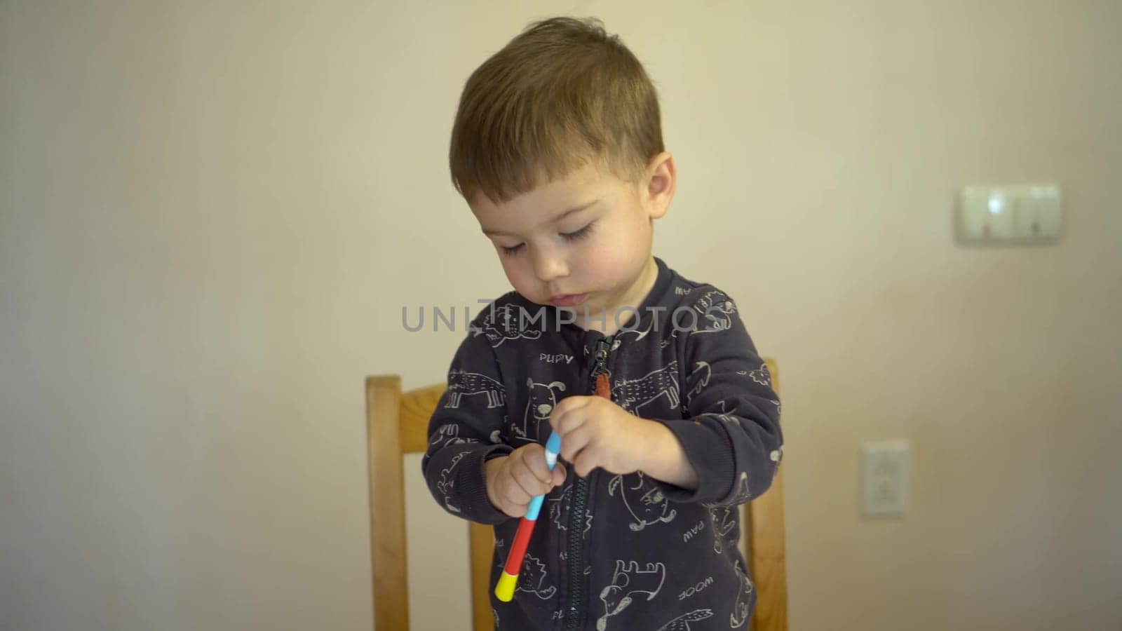
<svg viewBox="0 0 1122 631">
<path fill-rule="evenodd" d="M 745 628 L 737 506 L 779 467 L 780 403 L 733 300 L 652 255 L 675 171 L 643 66 L 596 20 L 531 25 L 468 80 L 450 163 L 514 291 L 452 359 L 424 475 L 495 524 L 493 584 L 548 494 L 496 628 Z"/>
</svg>

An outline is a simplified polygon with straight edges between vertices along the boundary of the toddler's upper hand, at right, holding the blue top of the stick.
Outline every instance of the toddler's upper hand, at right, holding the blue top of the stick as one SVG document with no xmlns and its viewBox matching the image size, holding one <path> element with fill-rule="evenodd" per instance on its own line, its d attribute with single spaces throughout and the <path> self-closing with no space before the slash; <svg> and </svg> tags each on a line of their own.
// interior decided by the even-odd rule
<svg viewBox="0 0 1122 631">
<path fill-rule="evenodd" d="M 644 468 L 650 440 L 657 423 L 641 419 L 603 396 L 573 395 L 561 400 L 550 414 L 561 435 L 561 457 L 585 477 L 596 467 L 615 474 Z"/>
</svg>

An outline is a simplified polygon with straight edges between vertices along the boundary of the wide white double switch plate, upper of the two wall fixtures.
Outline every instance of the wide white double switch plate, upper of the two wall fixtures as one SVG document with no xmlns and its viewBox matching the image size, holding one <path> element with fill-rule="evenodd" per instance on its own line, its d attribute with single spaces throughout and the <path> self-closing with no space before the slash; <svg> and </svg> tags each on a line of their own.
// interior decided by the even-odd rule
<svg viewBox="0 0 1122 631">
<path fill-rule="evenodd" d="M 958 238 L 967 244 L 1039 244 L 1059 238 L 1056 184 L 966 186 L 958 195 Z"/>
</svg>

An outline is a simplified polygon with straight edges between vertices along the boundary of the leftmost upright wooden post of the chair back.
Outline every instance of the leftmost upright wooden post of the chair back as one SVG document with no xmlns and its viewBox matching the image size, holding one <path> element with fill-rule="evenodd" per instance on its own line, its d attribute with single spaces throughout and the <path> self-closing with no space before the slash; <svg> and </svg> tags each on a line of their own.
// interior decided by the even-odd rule
<svg viewBox="0 0 1122 631">
<path fill-rule="evenodd" d="M 374 585 L 374 627 L 379 631 L 410 628 L 401 400 L 401 377 L 367 377 L 370 565 Z"/>
</svg>

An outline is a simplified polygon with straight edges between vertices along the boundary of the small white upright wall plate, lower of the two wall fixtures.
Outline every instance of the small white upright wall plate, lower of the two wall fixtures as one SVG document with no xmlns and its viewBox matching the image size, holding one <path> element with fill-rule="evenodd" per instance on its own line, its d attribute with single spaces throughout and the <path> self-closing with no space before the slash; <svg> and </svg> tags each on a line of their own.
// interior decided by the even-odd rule
<svg viewBox="0 0 1122 631">
<path fill-rule="evenodd" d="M 876 516 L 904 514 L 910 468 L 911 445 L 907 440 L 862 443 L 862 511 Z"/>
</svg>

